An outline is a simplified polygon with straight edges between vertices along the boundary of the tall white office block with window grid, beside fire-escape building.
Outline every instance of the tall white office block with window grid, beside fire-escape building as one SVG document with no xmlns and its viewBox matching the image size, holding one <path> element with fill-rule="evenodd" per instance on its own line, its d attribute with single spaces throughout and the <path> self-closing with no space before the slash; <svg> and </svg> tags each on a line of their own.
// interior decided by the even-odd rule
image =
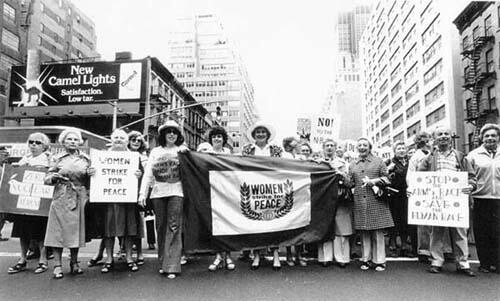
<svg viewBox="0 0 500 301">
<path fill-rule="evenodd" d="M 463 150 L 458 4 L 378 1 L 361 38 L 363 134 L 376 147 L 413 144 L 421 130 L 451 128 Z"/>
</svg>

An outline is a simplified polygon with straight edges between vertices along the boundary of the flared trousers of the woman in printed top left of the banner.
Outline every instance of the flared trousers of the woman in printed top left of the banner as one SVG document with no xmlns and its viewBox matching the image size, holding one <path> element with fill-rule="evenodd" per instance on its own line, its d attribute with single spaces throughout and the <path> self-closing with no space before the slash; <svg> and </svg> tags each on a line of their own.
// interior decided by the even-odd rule
<svg viewBox="0 0 500 301">
<path fill-rule="evenodd" d="M 158 260 L 166 273 L 181 272 L 183 198 L 152 199 L 158 235 Z"/>
</svg>

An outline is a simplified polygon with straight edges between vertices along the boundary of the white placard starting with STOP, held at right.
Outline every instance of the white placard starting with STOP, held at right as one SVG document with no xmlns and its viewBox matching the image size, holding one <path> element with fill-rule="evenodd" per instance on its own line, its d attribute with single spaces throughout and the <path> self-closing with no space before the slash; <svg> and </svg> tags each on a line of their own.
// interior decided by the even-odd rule
<svg viewBox="0 0 500 301">
<path fill-rule="evenodd" d="M 413 172 L 408 174 L 408 223 L 469 227 L 466 172 Z"/>
</svg>

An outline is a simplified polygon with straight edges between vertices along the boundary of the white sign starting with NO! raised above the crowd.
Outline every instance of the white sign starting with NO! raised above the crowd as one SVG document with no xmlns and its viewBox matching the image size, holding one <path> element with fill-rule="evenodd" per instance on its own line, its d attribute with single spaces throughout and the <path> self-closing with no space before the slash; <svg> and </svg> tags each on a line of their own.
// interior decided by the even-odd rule
<svg viewBox="0 0 500 301">
<path fill-rule="evenodd" d="M 338 141 L 339 119 L 337 114 L 318 115 L 311 121 L 311 147 L 322 149 L 326 139 Z"/>
</svg>

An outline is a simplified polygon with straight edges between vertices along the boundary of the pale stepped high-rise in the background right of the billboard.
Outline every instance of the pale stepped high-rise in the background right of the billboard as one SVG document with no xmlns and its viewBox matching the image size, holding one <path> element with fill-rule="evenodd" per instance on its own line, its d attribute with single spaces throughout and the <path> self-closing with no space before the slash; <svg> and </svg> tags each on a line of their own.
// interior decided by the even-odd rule
<svg viewBox="0 0 500 301">
<path fill-rule="evenodd" d="M 214 15 L 177 19 L 170 33 L 167 67 L 197 101 L 225 127 L 234 151 L 248 143 L 256 121 L 254 90 L 234 44 Z"/>
</svg>

